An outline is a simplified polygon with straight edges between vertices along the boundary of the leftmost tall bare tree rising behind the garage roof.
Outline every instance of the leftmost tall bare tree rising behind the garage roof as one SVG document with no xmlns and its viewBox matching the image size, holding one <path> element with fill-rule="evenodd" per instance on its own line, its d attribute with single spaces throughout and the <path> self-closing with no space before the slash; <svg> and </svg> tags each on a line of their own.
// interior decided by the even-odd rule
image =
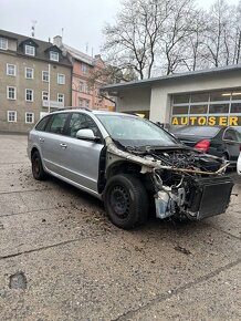
<svg viewBox="0 0 241 321">
<path fill-rule="evenodd" d="M 125 0 L 115 25 L 106 25 L 103 50 L 112 65 L 150 77 L 170 0 Z"/>
</svg>

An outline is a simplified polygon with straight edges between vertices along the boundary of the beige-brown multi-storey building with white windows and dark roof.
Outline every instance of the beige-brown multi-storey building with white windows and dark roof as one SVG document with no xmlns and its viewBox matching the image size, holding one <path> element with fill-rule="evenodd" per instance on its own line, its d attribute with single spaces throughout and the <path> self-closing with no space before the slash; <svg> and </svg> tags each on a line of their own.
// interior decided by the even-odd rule
<svg viewBox="0 0 241 321">
<path fill-rule="evenodd" d="M 71 105 L 72 65 L 51 42 L 0 30 L 0 132 L 27 133 Z"/>
</svg>

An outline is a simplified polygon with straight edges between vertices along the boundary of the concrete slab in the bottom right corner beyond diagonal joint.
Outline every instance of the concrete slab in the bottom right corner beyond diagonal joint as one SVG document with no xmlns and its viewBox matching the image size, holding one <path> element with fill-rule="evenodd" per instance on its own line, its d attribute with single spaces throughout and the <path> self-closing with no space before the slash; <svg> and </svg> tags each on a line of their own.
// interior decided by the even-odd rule
<svg viewBox="0 0 241 321">
<path fill-rule="evenodd" d="M 160 296 L 156 303 L 128 313 L 122 320 L 241 320 L 241 265 L 218 271 L 188 289 Z M 159 301 L 159 302 L 158 302 Z"/>
</svg>

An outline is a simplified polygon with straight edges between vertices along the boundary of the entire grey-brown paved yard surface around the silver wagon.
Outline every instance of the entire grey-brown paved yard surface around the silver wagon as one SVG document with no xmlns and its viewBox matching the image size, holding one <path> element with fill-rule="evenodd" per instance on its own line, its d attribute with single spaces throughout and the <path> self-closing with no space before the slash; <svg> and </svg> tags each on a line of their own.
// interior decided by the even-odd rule
<svg viewBox="0 0 241 321">
<path fill-rule="evenodd" d="M 36 182 L 0 135 L 0 320 L 241 320 L 241 179 L 226 214 L 124 231 L 103 205 Z"/>
</svg>

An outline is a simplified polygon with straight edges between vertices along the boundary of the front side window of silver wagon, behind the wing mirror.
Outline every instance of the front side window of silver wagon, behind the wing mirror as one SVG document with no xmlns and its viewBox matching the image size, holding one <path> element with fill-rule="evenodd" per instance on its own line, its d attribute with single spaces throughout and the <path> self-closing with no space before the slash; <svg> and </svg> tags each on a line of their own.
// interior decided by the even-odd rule
<svg viewBox="0 0 241 321">
<path fill-rule="evenodd" d="M 95 136 L 101 136 L 98 127 L 88 115 L 73 113 L 67 128 L 67 135 L 76 137 L 77 131 L 86 128 L 92 130 Z"/>
</svg>

